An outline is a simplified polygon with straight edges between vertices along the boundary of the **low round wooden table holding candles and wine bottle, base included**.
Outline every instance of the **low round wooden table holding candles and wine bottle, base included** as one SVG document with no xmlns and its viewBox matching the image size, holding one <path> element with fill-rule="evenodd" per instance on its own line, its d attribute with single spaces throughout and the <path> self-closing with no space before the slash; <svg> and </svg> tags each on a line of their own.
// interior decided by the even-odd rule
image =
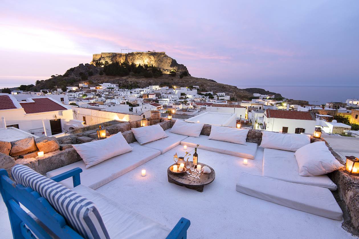
<svg viewBox="0 0 359 239">
<path fill-rule="evenodd" d="M 176 163 L 174 163 L 176 164 Z M 172 164 L 172 165 L 174 165 Z M 198 163 L 201 164 L 202 167 L 207 166 L 211 169 L 211 173 L 201 173 L 200 174 L 200 179 L 198 178 L 194 178 L 194 177 L 188 177 L 188 174 L 182 173 L 182 174 L 174 174 L 172 173 L 169 168 L 172 166 L 169 166 L 167 169 L 167 175 L 168 175 L 168 182 L 170 183 L 174 183 L 180 186 L 185 186 L 187 188 L 190 189 L 194 189 L 197 190 L 199 192 L 203 192 L 203 187 L 211 182 L 213 182 L 216 173 L 214 172 L 213 168 L 211 168 L 210 166 L 208 166 L 207 164 L 204 163 Z M 190 168 L 187 168 L 187 171 L 191 172 Z M 203 175 L 202 175 L 203 174 Z"/>
</svg>

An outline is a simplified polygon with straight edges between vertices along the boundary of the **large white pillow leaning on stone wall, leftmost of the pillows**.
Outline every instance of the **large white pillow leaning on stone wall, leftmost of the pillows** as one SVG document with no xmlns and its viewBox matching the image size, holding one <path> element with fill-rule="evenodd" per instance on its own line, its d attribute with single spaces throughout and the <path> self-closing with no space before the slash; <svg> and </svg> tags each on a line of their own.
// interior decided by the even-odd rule
<svg viewBox="0 0 359 239">
<path fill-rule="evenodd" d="M 86 168 L 101 163 L 106 159 L 130 152 L 132 147 L 121 132 L 97 141 L 72 145 L 86 164 Z"/>
</svg>

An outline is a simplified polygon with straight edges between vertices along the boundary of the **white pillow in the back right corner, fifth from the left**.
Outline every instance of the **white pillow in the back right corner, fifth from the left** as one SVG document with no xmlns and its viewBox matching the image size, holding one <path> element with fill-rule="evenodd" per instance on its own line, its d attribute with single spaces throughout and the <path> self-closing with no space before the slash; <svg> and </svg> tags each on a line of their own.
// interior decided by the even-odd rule
<svg viewBox="0 0 359 239">
<path fill-rule="evenodd" d="M 262 131 L 262 142 L 260 147 L 295 152 L 297 149 L 310 143 L 311 136 L 308 134 L 280 134 Z"/>
</svg>

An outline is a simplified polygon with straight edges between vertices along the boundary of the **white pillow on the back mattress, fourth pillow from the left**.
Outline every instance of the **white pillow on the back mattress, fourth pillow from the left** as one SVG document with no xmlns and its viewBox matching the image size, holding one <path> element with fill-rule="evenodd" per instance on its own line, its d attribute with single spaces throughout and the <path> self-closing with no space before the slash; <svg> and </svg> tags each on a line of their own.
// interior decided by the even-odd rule
<svg viewBox="0 0 359 239">
<path fill-rule="evenodd" d="M 247 145 L 246 139 L 248 131 L 248 129 L 237 129 L 212 125 L 211 133 L 209 134 L 208 139 Z"/>
</svg>

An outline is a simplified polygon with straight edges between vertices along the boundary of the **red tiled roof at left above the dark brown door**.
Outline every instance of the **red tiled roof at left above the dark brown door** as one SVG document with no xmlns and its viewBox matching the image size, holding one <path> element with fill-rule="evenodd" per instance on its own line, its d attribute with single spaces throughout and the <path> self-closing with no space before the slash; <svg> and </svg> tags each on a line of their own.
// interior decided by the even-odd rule
<svg viewBox="0 0 359 239">
<path fill-rule="evenodd" d="M 32 100 L 34 102 L 20 103 L 26 114 L 67 110 L 64 106 L 61 106 L 48 98 L 33 98 Z"/>
</svg>

